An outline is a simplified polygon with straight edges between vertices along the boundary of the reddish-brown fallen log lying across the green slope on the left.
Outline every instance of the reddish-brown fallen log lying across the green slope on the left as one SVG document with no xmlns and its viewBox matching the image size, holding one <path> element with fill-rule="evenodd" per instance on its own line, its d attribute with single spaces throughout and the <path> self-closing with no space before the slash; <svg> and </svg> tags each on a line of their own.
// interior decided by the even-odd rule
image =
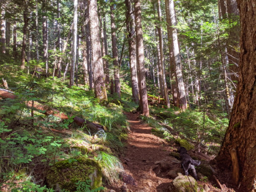
<svg viewBox="0 0 256 192">
<path fill-rule="evenodd" d="M 14 95 L 14 94 L 6 91 L 6 90 L 0 89 L 0 97 L 1 98 L 15 99 L 16 95 Z M 48 106 L 43 105 L 43 104 L 41 104 L 39 102 L 36 102 L 36 101 L 34 101 L 34 104 L 32 104 L 32 101 L 27 101 L 26 105 L 28 107 L 33 107 L 33 109 L 35 109 L 38 112 L 40 112 L 42 114 L 45 114 L 45 115 L 53 115 L 55 117 L 61 118 L 62 120 L 69 119 L 67 114 L 62 113 L 57 109 L 48 107 Z M 80 117 L 74 117 L 74 122 L 79 126 L 85 125 L 86 128 L 88 128 L 92 131 L 95 131 L 95 132 L 100 130 L 100 129 L 104 129 L 104 127 L 102 125 L 87 121 L 87 120 L 82 119 Z"/>
</svg>

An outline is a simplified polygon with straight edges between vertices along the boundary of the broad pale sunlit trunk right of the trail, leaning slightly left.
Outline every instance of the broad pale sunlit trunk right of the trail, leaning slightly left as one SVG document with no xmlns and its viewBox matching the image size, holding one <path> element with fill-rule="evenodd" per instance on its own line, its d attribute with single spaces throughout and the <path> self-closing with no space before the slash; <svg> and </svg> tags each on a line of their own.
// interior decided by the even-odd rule
<svg viewBox="0 0 256 192">
<path fill-rule="evenodd" d="M 171 25 L 176 26 L 173 0 L 169 0 L 169 9 L 170 9 Z M 175 65 L 175 76 L 176 76 L 176 82 L 177 82 L 177 88 L 178 88 L 179 107 L 185 110 L 187 108 L 187 99 L 186 99 L 185 86 L 184 86 L 183 77 L 182 77 L 182 66 L 181 66 L 181 57 L 180 57 L 177 29 L 175 27 L 172 27 L 171 34 L 172 34 L 172 41 L 173 41 L 173 57 L 174 57 L 174 65 Z"/>
</svg>

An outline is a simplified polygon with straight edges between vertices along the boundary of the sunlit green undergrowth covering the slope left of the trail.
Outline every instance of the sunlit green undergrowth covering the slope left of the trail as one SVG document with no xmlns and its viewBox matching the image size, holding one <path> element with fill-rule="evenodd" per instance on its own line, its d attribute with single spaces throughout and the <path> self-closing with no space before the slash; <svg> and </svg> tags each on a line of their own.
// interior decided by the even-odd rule
<svg viewBox="0 0 256 192">
<path fill-rule="evenodd" d="M 35 81 L 16 76 L 8 80 L 15 82 L 9 87 L 16 92 L 17 99 L 0 100 L 1 191 L 54 191 L 46 187 L 46 171 L 57 161 L 73 162 L 78 156 L 97 161 L 105 183 L 119 179 L 123 166 L 116 156 L 123 153 L 129 129 L 123 109 L 136 106 L 130 101 L 128 85 L 123 84 L 120 100 L 108 95 L 111 105 L 102 106 L 93 91 L 86 91 L 84 86 L 67 88 L 60 79 Z M 63 121 L 40 111 L 31 113 L 27 101 L 43 103 L 69 114 L 70 118 Z M 86 126 L 79 127 L 73 122 L 75 116 L 99 123 L 104 129 L 93 132 Z M 77 191 L 88 188 L 88 182 L 76 183 Z"/>
</svg>

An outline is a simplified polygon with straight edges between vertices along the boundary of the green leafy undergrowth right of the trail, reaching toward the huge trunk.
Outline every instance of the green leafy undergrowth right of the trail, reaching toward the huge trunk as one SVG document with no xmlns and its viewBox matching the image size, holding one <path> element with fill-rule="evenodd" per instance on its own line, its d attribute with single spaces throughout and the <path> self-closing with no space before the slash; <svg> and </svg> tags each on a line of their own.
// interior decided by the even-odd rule
<svg viewBox="0 0 256 192">
<path fill-rule="evenodd" d="M 219 151 L 229 121 L 226 113 L 209 106 L 185 112 L 176 107 L 150 106 L 150 114 L 150 117 L 140 118 L 154 128 L 152 134 L 170 142 L 176 138 L 186 139 L 212 156 Z"/>
</svg>

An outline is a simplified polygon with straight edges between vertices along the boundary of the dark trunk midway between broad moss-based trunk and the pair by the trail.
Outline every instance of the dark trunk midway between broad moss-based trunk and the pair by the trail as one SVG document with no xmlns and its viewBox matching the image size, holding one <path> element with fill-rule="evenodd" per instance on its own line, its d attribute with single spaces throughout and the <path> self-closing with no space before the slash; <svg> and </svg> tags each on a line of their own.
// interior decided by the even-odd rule
<svg viewBox="0 0 256 192">
<path fill-rule="evenodd" d="M 110 0 L 110 11 L 111 11 L 111 37 L 112 37 L 112 53 L 113 53 L 113 64 L 114 64 L 114 82 L 115 82 L 115 93 L 120 98 L 121 86 L 120 86 L 120 66 L 118 64 L 118 53 L 117 53 L 117 38 L 116 38 L 116 26 L 115 26 L 115 15 L 114 15 L 114 1 Z"/>
</svg>

